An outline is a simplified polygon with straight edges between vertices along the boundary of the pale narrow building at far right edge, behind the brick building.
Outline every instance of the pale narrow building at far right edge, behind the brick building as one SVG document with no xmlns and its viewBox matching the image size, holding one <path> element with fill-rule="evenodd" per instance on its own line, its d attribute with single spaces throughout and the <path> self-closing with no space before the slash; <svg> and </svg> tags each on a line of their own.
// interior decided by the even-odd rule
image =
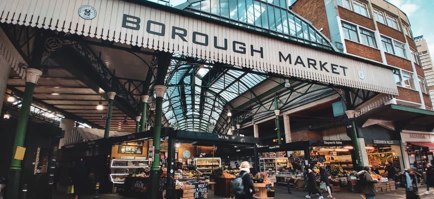
<svg viewBox="0 0 434 199">
<path fill-rule="evenodd" d="M 428 92 L 431 96 L 431 102 L 434 104 L 434 67 L 433 59 L 431 58 L 430 50 L 428 49 L 427 40 L 424 36 L 415 37 L 416 47 L 418 48 L 419 58 L 421 60 L 422 69 L 427 80 Z"/>
</svg>

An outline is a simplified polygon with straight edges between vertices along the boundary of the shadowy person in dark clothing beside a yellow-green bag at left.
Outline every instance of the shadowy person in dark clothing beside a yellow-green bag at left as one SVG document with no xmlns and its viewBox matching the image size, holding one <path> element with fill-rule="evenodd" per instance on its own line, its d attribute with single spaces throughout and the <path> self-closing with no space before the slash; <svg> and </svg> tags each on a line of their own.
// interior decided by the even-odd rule
<svg viewBox="0 0 434 199">
<path fill-rule="evenodd" d="M 86 192 L 86 183 L 88 180 L 87 169 L 83 160 L 78 161 L 71 171 L 72 185 L 74 185 L 75 199 L 81 199 Z"/>
</svg>

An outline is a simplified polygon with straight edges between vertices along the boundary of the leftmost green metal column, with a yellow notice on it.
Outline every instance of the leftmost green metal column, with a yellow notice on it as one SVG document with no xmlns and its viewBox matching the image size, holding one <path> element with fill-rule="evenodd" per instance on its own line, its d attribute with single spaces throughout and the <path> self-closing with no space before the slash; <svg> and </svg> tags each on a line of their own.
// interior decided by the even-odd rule
<svg viewBox="0 0 434 199">
<path fill-rule="evenodd" d="M 31 102 L 33 100 L 33 91 L 38 78 L 42 75 L 42 71 L 35 68 L 27 68 L 26 83 L 24 89 L 24 97 L 21 102 L 18 122 L 16 124 L 15 139 L 13 141 L 12 157 L 7 178 L 7 199 L 19 198 L 19 186 L 21 176 L 21 160 L 15 159 L 17 147 L 24 146 L 25 134 L 27 131 L 28 115 L 30 112 Z"/>
</svg>

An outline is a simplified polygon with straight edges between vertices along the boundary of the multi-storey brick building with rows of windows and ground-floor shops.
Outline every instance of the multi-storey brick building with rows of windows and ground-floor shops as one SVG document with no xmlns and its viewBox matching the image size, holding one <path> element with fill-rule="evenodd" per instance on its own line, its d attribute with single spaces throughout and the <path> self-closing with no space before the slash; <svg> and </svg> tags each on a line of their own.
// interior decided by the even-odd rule
<svg viewBox="0 0 434 199">
<path fill-rule="evenodd" d="M 385 0 L 296 0 L 290 9 L 311 21 L 344 54 L 394 68 L 399 95 L 359 116 L 360 145 L 398 139 L 401 164 L 422 170 L 424 164 L 433 160 L 429 148 L 434 146 L 428 144 L 421 150 L 427 153 L 418 154 L 415 148 L 431 141 L 424 136 L 421 138 L 425 139 L 414 140 L 410 134 L 433 134 L 431 122 L 421 119 L 424 114 L 432 115 L 433 104 L 425 78 L 427 73 L 424 74 L 406 13 Z M 417 115 L 408 116 L 416 112 Z M 379 134 L 390 136 L 379 139 Z M 367 155 L 362 156 L 368 159 Z M 367 164 L 367 160 L 362 161 Z M 373 164 L 371 160 L 368 162 Z"/>
</svg>

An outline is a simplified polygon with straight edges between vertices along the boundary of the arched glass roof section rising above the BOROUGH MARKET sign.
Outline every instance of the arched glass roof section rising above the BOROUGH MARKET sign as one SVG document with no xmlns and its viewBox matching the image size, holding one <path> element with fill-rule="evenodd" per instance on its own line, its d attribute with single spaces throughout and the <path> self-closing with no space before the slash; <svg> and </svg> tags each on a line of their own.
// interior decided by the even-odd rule
<svg viewBox="0 0 434 199">
<path fill-rule="evenodd" d="M 285 0 L 189 0 L 180 9 L 261 32 L 333 50 L 309 21 L 287 9 Z"/>
</svg>

